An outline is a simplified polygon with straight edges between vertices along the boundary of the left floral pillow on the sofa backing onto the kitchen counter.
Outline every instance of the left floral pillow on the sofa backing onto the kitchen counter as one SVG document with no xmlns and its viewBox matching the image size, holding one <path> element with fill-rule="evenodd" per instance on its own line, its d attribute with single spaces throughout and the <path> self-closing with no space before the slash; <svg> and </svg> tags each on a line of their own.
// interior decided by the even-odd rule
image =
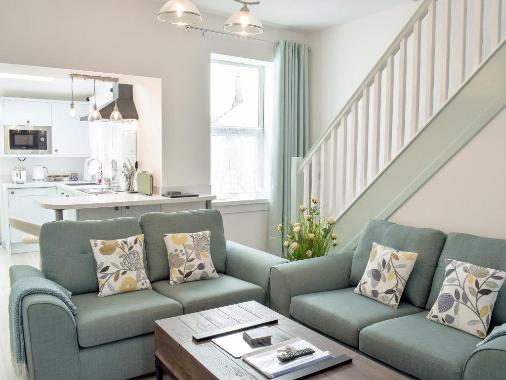
<svg viewBox="0 0 506 380">
<path fill-rule="evenodd" d="M 90 240 L 95 255 L 99 297 L 151 289 L 142 257 L 144 235 L 118 240 Z"/>
</svg>

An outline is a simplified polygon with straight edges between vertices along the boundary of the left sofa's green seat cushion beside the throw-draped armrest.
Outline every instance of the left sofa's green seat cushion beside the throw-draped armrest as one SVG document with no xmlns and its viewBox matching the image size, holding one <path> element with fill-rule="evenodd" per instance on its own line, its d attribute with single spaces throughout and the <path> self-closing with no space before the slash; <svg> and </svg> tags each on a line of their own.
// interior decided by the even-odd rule
<svg viewBox="0 0 506 380">
<path fill-rule="evenodd" d="M 154 331 L 154 321 L 183 314 L 179 302 L 154 290 L 138 290 L 108 297 L 98 293 L 72 296 L 81 347 L 103 345 Z"/>
</svg>

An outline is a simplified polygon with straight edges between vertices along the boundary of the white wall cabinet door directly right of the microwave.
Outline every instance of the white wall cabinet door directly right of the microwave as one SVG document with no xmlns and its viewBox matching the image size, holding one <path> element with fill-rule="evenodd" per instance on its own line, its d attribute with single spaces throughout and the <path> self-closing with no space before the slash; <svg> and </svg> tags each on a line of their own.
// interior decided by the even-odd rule
<svg viewBox="0 0 506 380">
<path fill-rule="evenodd" d="M 88 103 L 74 103 L 79 116 L 88 115 Z M 51 103 L 53 155 L 90 155 L 88 122 L 67 120 L 68 103 Z"/>
</svg>

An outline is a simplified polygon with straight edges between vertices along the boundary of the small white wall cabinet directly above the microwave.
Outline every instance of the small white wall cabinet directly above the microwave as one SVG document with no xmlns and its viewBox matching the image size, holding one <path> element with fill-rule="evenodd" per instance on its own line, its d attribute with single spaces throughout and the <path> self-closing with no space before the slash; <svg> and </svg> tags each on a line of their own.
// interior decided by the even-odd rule
<svg viewBox="0 0 506 380">
<path fill-rule="evenodd" d="M 31 100 L 4 100 L 4 125 L 51 125 L 51 102 Z"/>
</svg>

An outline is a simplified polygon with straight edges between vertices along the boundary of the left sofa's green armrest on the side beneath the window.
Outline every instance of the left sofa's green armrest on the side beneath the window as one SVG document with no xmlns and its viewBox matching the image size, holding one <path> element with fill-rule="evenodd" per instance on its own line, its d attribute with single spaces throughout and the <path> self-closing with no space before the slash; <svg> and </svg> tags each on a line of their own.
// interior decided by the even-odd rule
<svg viewBox="0 0 506 380">
<path fill-rule="evenodd" d="M 283 262 L 288 260 L 227 240 L 225 265 L 227 276 L 250 282 L 269 291 L 271 267 Z"/>
</svg>

